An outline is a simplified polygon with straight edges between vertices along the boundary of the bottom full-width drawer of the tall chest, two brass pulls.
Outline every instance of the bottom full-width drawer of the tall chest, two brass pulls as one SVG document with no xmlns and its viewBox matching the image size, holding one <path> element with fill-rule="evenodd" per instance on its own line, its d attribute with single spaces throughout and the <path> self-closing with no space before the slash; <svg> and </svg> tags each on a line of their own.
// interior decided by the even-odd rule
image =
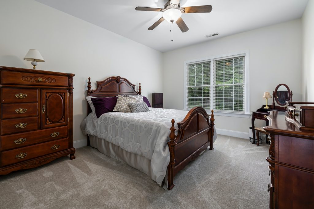
<svg viewBox="0 0 314 209">
<path fill-rule="evenodd" d="M 68 138 L 1 152 L 1 166 L 68 149 Z"/>
</svg>

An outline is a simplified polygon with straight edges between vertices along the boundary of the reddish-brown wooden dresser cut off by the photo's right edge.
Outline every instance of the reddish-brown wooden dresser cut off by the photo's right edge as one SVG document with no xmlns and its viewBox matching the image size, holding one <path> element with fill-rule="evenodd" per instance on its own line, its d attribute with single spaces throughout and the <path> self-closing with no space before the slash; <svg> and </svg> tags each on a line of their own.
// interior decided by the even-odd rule
<svg viewBox="0 0 314 209">
<path fill-rule="evenodd" d="M 314 208 L 314 105 L 295 103 L 286 112 L 270 111 L 264 127 L 271 138 L 270 208 Z"/>
</svg>

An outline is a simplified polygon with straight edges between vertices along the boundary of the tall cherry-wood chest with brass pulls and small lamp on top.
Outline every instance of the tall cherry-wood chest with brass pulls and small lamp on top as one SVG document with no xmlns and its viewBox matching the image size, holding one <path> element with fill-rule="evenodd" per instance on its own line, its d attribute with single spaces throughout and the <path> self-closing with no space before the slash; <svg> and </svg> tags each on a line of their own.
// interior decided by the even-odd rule
<svg viewBox="0 0 314 209">
<path fill-rule="evenodd" d="M 73 76 L 0 66 L 0 175 L 75 159 Z"/>
</svg>

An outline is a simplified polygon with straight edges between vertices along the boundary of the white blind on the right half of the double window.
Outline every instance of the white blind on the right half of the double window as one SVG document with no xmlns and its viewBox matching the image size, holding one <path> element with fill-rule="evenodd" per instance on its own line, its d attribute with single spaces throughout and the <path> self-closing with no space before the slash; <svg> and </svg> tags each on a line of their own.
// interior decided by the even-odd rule
<svg viewBox="0 0 314 209">
<path fill-rule="evenodd" d="M 213 109 L 245 112 L 245 56 L 214 60 Z"/>
</svg>

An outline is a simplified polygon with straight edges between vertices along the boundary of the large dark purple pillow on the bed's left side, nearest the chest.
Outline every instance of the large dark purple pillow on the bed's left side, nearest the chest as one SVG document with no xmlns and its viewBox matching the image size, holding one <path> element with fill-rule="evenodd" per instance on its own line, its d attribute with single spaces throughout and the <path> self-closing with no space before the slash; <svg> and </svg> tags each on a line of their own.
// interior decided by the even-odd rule
<svg viewBox="0 0 314 209">
<path fill-rule="evenodd" d="M 117 103 L 117 97 L 90 98 L 95 107 L 97 118 L 106 112 L 112 112 Z"/>
</svg>

